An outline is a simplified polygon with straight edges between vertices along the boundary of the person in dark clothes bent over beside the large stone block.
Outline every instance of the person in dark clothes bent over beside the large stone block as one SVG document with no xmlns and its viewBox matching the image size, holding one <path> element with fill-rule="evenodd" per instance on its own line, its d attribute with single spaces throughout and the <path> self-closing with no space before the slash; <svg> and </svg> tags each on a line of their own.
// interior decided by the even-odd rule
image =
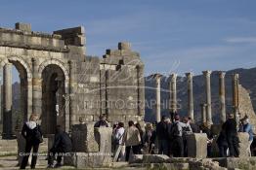
<svg viewBox="0 0 256 170">
<path fill-rule="evenodd" d="M 64 132 L 61 125 L 57 126 L 54 144 L 50 152 L 48 153 L 48 167 L 60 167 L 62 162 L 62 156 L 64 153 L 70 153 L 72 151 L 72 142 L 68 134 Z M 54 166 L 54 157 L 57 153 L 57 164 Z"/>
</svg>

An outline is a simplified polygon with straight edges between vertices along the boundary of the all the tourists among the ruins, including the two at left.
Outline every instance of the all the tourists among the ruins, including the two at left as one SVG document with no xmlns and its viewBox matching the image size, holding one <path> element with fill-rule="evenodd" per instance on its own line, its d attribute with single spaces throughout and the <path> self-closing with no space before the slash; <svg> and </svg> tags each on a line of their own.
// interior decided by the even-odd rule
<svg viewBox="0 0 256 170">
<path fill-rule="evenodd" d="M 42 132 L 40 125 L 36 123 L 37 116 L 32 114 L 30 119 L 23 124 L 21 135 L 25 138 L 25 153 L 21 161 L 21 169 L 27 165 L 28 156 L 33 149 L 31 169 L 35 168 L 39 144 L 42 143 Z M 181 119 L 178 114 L 174 114 L 170 119 L 163 116 L 160 122 L 147 123 L 141 126 L 139 122 L 128 121 L 125 128 L 124 122 L 112 125 L 112 148 L 114 160 L 128 161 L 130 154 L 166 154 L 174 157 L 188 156 L 187 136 L 192 133 L 206 133 L 207 135 L 207 156 L 211 156 L 211 147 L 215 135 L 212 133 L 211 124 L 204 123 L 200 126 L 192 122 L 191 118 Z M 94 127 L 109 127 L 107 117 L 100 116 Z M 237 130 L 237 127 L 238 130 Z M 216 143 L 219 148 L 219 156 L 238 156 L 239 139 L 237 131 L 249 134 L 249 145 L 247 152 L 250 153 L 250 146 L 253 142 L 252 125 L 245 116 L 240 119 L 240 124 L 236 124 L 234 114 L 230 114 L 226 122 L 223 123 Z M 66 132 L 57 126 L 54 144 L 48 153 L 49 167 L 61 166 L 62 153 L 69 153 L 72 150 L 71 140 Z M 229 154 L 228 154 L 229 153 Z M 54 158 L 57 155 L 57 164 L 54 166 Z"/>
</svg>

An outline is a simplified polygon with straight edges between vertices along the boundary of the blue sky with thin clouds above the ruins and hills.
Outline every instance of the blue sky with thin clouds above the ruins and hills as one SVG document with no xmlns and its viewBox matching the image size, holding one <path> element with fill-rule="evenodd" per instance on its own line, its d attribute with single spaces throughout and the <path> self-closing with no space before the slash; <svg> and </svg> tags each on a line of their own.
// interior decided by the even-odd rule
<svg viewBox="0 0 256 170">
<path fill-rule="evenodd" d="M 0 26 L 29 22 L 51 33 L 84 25 L 88 55 L 128 41 L 146 75 L 200 74 L 256 66 L 255 8 L 255 0 L 3 0 Z"/>
</svg>

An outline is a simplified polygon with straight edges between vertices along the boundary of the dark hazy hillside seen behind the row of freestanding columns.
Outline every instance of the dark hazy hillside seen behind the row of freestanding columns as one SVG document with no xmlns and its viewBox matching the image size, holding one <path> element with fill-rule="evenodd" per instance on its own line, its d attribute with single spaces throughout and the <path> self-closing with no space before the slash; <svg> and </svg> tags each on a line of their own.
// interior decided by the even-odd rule
<svg viewBox="0 0 256 170">
<path fill-rule="evenodd" d="M 226 104 L 227 111 L 232 110 L 232 75 L 239 74 L 239 84 L 245 87 L 251 97 L 254 110 L 256 109 L 256 68 L 251 69 L 235 69 L 226 72 Z M 150 100 L 155 99 L 154 80 L 145 78 L 146 84 L 146 100 L 149 103 Z M 163 103 L 166 103 L 169 98 L 168 91 L 169 78 L 163 77 L 161 81 L 161 100 Z M 205 86 L 204 86 L 204 77 L 203 75 L 198 75 L 193 77 L 193 105 L 194 105 L 194 117 L 195 120 L 200 120 L 200 103 L 205 103 Z M 166 90 L 166 91 L 165 91 Z M 180 106 L 179 113 L 182 116 L 187 115 L 188 111 L 188 93 L 187 93 L 187 78 L 178 77 L 177 78 L 177 98 Z M 213 121 L 216 123 L 219 121 L 219 76 L 218 72 L 214 71 L 211 74 L 211 93 L 212 93 L 212 114 Z M 153 121 L 154 109 L 146 108 L 145 120 Z M 168 115 L 168 109 L 162 108 L 162 115 Z"/>
</svg>

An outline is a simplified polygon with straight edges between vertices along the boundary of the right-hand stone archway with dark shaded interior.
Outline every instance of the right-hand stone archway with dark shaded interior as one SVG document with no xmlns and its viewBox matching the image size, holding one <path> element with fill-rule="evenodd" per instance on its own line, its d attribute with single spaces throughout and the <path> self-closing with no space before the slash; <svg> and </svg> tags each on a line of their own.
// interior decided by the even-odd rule
<svg viewBox="0 0 256 170">
<path fill-rule="evenodd" d="M 42 129 L 45 134 L 55 133 L 56 125 L 69 129 L 68 72 L 58 60 L 48 60 L 39 66 L 42 80 Z"/>
</svg>

